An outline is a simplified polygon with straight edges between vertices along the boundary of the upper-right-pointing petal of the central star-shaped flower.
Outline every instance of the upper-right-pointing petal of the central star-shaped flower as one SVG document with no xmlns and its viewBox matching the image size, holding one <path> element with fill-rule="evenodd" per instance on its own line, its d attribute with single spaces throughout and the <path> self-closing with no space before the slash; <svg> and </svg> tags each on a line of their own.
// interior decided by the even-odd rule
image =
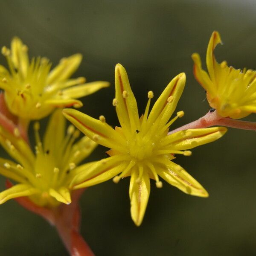
<svg viewBox="0 0 256 256">
<path fill-rule="evenodd" d="M 180 73 L 179 75 L 175 76 L 175 78 L 172 79 L 172 81 L 170 81 L 170 83 L 167 85 L 163 93 L 155 102 L 148 116 L 147 125 L 149 128 L 157 120 L 157 118 L 161 118 L 161 122 L 166 124 L 166 122 L 172 116 L 172 113 L 175 111 L 177 103 L 183 92 L 185 82 L 185 73 Z M 168 99 L 170 99 L 169 97 L 172 97 L 171 102 L 168 102 Z M 165 111 L 163 111 L 164 109 Z"/>
</svg>

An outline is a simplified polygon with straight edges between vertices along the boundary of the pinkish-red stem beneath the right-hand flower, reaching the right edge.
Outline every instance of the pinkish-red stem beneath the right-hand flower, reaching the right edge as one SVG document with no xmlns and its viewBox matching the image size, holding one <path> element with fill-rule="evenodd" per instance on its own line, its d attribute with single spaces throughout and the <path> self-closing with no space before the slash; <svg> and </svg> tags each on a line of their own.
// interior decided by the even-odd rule
<svg viewBox="0 0 256 256">
<path fill-rule="evenodd" d="M 256 131 L 256 122 L 247 122 L 237 119 L 231 119 L 229 117 L 222 117 L 218 115 L 217 111 L 209 111 L 206 115 L 202 116 L 198 120 L 195 120 L 173 131 L 170 131 L 169 134 L 173 134 L 177 131 L 183 131 L 187 129 L 207 128 L 213 125 L 223 125 L 237 129 Z"/>
</svg>

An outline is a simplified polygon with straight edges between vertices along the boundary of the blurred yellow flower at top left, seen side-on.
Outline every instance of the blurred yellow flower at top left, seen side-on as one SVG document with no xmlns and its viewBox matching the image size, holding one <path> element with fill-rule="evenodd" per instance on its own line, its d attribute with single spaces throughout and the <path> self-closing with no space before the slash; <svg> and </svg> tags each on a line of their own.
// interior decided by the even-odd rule
<svg viewBox="0 0 256 256">
<path fill-rule="evenodd" d="M 27 46 L 14 38 L 11 49 L 2 48 L 10 71 L 0 65 L 0 88 L 5 90 L 8 108 L 23 119 L 41 119 L 55 107 L 81 107 L 77 98 L 109 85 L 104 81 L 84 84 L 84 77 L 69 79 L 81 63 L 81 54 L 61 59 L 50 71 L 52 64 L 47 58 L 29 61 L 27 51 Z"/>
</svg>

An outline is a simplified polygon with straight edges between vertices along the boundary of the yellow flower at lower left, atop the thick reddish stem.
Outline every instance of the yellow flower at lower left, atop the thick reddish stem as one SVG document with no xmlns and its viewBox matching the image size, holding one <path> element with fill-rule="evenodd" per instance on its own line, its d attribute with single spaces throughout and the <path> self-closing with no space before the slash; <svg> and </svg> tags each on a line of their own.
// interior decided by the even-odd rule
<svg viewBox="0 0 256 256">
<path fill-rule="evenodd" d="M 35 129 L 35 154 L 20 137 L 0 128 L 0 143 L 17 163 L 0 158 L 0 174 L 14 180 L 17 184 L 0 192 L 0 204 L 9 199 L 28 196 L 39 206 L 57 206 L 60 202 L 70 204 L 70 182 L 91 163 L 77 166 L 96 147 L 88 137 L 74 143 L 79 131 L 73 125 L 67 129 L 61 110 L 55 111 L 49 121 L 43 143 Z M 77 166 L 77 167 L 76 167 Z"/>
</svg>

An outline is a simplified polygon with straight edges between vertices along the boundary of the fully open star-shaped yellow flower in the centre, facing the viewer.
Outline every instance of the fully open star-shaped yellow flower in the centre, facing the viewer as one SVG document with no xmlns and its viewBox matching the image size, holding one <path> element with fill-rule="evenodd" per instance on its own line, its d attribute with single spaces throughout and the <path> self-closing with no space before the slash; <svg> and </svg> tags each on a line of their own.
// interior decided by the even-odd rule
<svg viewBox="0 0 256 256">
<path fill-rule="evenodd" d="M 74 109 L 64 109 L 64 115 L 79 130 L 95 142 L 111 148 L 107 151 L 111 157 L 100 160 L 77 175 L 72 181 L 73 188 L 92 186 L 111 178 L 118 182 L 123 177 L 131 176 L 131 218 L 138 226 L 143 221 L 148 203 L 150 178 L 156 181 L 158 188 L 162 187 L 160 176 L 187 194 L 207 197 L 207 191 L 181 166 L 172 162 L 175 159 L 173 154 L 189 156 L 191 151 L 187 149 L 217 140 L 227 129 L 190 129 L 168 135 L 169 126 L 184 114 L 179 111 L 169 121 L 183 91 L 185 74 L 180 73 L 172 79 L 150 113 L 153 92 L 149 91 L 148 104 L 140 118 L 127 73 L 120 64 L 116 65 L 115 80 L 113 105 L 121 127 L 111 128 L 104 116 L 97 120 Z"/>
</svg>

